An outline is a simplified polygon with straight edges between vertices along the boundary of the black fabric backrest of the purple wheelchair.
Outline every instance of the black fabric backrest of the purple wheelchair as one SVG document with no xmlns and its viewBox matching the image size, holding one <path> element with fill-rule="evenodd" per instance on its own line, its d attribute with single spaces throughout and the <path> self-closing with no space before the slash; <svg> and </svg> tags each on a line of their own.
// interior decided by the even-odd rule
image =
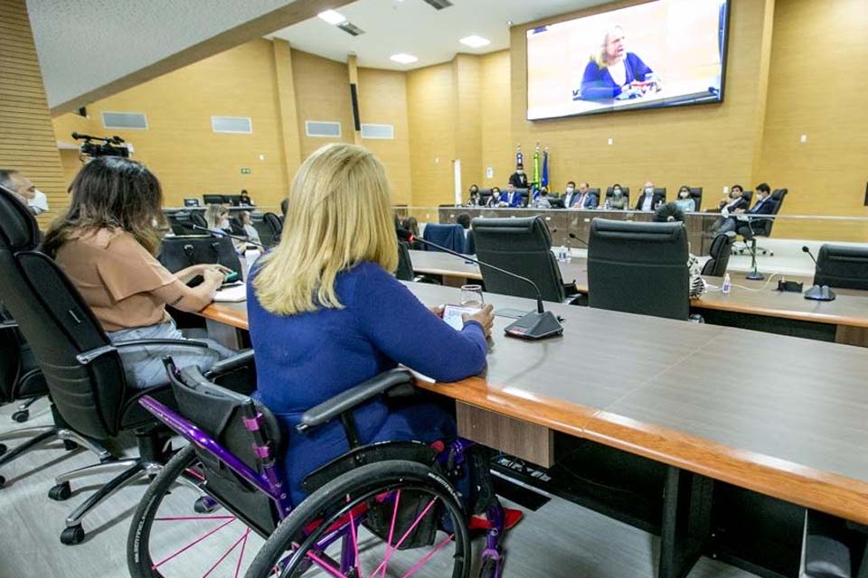
<svg viewBox="0 0 868 578">
<path fill-rule="evenodd" d="M 268 407 L 249 396 L 212 383 L 195 366 L 178 371 L 170 363 L 168 368 L 178 412 L 211 435 L 232 455 L 262 473 L 259 460 L 253 452 L 253 434 L 244 425 L 250 405 L 261 415 L 260 432 L 271 446 L 273 455 L 283 454 L 278 420 Z M 223 466 L 211 452 L 197 447 L 196 454 L 203 464 L 208 491 L 222 503 L 231 504 L 232 509 L 241 514 L 245 521 L 268 536 L 278 520 L 274 502 Z"/>
</svg>

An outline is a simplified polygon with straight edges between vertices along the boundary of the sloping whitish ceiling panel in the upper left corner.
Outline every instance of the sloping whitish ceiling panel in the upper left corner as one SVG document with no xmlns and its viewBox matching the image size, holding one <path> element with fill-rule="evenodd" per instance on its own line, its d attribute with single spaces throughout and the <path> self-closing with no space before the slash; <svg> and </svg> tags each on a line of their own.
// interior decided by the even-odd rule
<svg viewBox="0 0 868 578">
<path fill-rule="evenodd" d="M 293 0 L 27 0 L 48 106 Z"/>
</svg>

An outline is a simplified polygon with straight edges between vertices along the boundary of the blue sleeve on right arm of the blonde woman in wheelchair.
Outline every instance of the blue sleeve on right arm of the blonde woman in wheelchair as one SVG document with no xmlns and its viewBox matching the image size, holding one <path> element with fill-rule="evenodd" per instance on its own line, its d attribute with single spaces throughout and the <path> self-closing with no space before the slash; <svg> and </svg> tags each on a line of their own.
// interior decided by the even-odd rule
<svg viewBox="0 0 868 578">
<path fill-rule="evenodd" d="M 458 381 L 485 368 L 488 346 L 476 322 L 455 331 L 381 266 L 363 263 L 353 292 L 364 334 L 393 361 L 437 381 Z"/>
</svg>

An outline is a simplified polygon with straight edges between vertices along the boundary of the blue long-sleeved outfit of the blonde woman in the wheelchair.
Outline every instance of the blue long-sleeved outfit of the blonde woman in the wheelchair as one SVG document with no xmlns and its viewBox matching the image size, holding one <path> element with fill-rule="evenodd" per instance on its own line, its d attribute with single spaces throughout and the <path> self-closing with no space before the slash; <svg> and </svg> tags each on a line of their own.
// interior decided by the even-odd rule
<svg viewBox="0 0 868 578">
<path fill-rule="evenodd" d="M 445 382 L 476 375 L 486 364 L 478 323 L 455 331 L 381 266 L 362 263 L 339 274 L 335 291 L 343 309 L 278 316 L 262 308 L 248 284 L 257 395 L 284 429 L 283 462 L 295 504 L 306 496 L 304 477 L 348 450 L 337 422 L 297 433 L 307 409 L 398 363 Z M 378 399 L 356 410 L 355 420 L 362 443 L 456 435 L 452 416 L 433 404 L 392 408 Z"/>
</svg>

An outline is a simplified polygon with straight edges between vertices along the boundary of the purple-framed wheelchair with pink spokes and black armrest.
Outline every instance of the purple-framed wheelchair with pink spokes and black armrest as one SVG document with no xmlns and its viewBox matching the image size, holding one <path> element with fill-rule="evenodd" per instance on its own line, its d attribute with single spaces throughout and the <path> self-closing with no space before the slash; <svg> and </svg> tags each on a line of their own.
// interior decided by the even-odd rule
<svg viewBox="0 0 868 578">
<path fill-rule="evenodd" d="M 164 359 L 177 411 L 140 400 L 189 442 L 152 480 L 127 537 L 133 578 L 423 576 L 497 578 L 505 508 L 492 495 L 485 548 L 474 564 L 470 517 L 456 489 L 478 466 L 467 440 L 362 445 L 354 408 L 408 396 L 410 373 L 392 369 L 311 408 L 292 435 L 339 420 L 350 451 L 303 480 L 293 505 L 280 467 L 278 421 L 258 400 L 217 386 L 199 368 Z"/>
</svg>

